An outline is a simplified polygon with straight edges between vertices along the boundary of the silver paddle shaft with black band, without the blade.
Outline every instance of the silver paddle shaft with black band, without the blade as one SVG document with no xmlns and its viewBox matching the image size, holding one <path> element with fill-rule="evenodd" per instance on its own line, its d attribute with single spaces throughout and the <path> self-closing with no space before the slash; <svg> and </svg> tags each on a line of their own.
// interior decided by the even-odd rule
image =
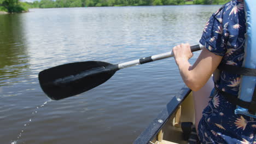
<svg viewBox="0 0 256 144">
<path fill-rule="evenodd" d="M 203 47 L 204 47 L 203 45 L 199 44 L 199 45 L 190 46 L 190 49 L 191 49 L 191 52 L 194 52 L 194 51 L 201 50 Z M 118 69 L 124 69 L 124 68 L 132 67 L 135 65 L 158 61 L 160 59 L 173 57 L 173 56 L 174 56 L 173 52 L 169 51 L 169 52 L 165 52 L 165 53 L 160 53 L 158 55 L 153 55 L 150 57 L 144 57 L 144 58 L 136 59 L 136 60 L 129 61 L 129 62 L 119 63 L 115 66 L 118 67 Z"/>
</svg>

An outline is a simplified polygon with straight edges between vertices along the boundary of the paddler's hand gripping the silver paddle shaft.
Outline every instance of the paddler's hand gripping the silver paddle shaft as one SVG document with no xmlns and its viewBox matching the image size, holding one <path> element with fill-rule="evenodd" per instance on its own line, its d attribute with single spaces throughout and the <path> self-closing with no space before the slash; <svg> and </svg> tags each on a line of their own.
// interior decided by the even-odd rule
<svg viewBox="0 0 256 144">
<path fill-rule="evenodd" d="M 193 56 L 193 53 L 190 50 L 189 44 L 180 44 L 174 46 L 172 49 L 176 63 L 180 61 L 188 61 Z"/>
</svg>

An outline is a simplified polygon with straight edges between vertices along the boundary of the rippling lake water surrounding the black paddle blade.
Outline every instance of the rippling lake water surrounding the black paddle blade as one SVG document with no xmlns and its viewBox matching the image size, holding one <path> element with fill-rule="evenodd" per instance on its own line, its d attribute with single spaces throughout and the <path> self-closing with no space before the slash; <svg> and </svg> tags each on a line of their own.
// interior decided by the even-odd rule
<svg viewBox="0 0 256 144">
<path fill-rule="evenodd" d="M 79 61 L 118 64 L 179 43 L 198 44 L 219 7 L 31 9 L 0 15 L 0 142 L 132 143 L 184 85 L 173 58 L 119 70 L 101 86 L 47 105 L 38 73 Z"/>
</svg>

